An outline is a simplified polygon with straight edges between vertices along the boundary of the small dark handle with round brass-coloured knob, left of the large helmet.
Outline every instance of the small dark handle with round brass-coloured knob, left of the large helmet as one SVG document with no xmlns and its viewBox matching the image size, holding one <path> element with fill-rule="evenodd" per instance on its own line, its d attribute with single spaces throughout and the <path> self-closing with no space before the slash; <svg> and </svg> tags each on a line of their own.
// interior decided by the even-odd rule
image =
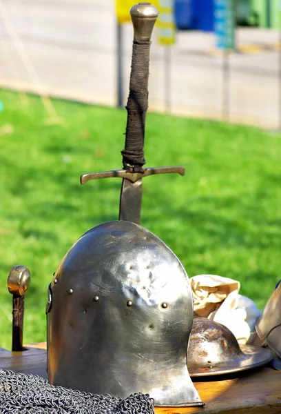
<svg viewBox="0 0 281 414">
<path fill-rule="evenodd" d="M 8 276 L 8 290 L 12 293 L 12 351 L 23 351 L 24 293 L 30 286 L 30 271 L 14 266 Z"/>
</svg>

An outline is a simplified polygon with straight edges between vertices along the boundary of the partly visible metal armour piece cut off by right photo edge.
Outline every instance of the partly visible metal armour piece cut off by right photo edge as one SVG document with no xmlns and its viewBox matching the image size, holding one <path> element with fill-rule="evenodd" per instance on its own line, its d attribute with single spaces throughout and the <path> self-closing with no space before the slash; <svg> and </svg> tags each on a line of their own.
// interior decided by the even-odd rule
<svg viewBox="0 0 281 414">
<path fill-rule="evenodd" d="M 267 344 L 281 358 L 281 281 L 256 322 L 256 332 L 262 344 Z"/>
</svg>

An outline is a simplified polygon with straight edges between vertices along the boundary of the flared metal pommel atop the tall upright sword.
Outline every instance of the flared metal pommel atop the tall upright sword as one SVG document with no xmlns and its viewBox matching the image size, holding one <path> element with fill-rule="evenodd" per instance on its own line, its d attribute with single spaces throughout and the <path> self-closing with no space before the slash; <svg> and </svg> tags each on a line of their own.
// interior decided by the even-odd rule
<svg viewBox="0 0 281 414">
<path fill-rule="evenodd" d="M 150 41 L 158 17 L 157 8 L 150 3 L 138 3 L 129 10 L 129 13 L 134 26 L 134 39 Z"/>
</svg>

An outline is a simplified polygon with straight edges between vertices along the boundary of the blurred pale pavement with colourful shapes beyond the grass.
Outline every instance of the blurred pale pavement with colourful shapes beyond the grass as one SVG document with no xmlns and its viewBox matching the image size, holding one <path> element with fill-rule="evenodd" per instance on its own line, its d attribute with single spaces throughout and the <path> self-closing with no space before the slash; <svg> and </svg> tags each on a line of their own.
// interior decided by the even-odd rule
<svg viewBox="0 0 281 414">
<path fill-rule="evenodd" d="M 124 104 L 134 1 L 116 1 L 1 0 L 0 86 Z M 150 110 L 280 128 L 279 0 L 154 3 Z"/>
</svg>

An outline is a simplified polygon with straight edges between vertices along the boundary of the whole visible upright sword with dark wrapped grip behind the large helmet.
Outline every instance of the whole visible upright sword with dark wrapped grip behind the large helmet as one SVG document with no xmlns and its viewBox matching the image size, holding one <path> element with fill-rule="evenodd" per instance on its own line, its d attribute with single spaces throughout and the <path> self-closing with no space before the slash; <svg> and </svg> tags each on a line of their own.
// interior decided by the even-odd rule
<svg viewBox="0 0 281 414">
<path fill-rule="evenodd" d="M 138 3 L 129 10 L 134 26 L 132 68 L 127 100 L 127 126 L 123 170 L 89 172 L 80 177 L 81 184 L 92 179 L 121 177 L 119 220 L 140 223 L 142 179 L 148 175 L 178 173 L 185 174 L 182 166 L 143 168 L 145 165 L 144 141 L 145 118 L 148 108 L 149 52 L 154 23 L 158 10 L 150 3 Z"/>
</svg>

